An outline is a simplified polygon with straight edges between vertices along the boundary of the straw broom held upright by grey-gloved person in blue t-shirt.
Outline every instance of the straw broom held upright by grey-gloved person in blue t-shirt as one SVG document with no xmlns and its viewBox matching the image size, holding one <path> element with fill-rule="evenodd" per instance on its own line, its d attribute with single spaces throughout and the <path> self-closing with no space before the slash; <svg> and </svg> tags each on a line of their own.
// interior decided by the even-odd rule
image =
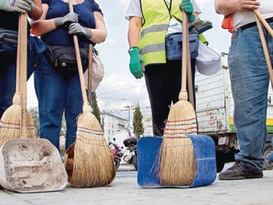
<svg viewBox="0 0 273 205">
<path fill-rule="evenodd" d="M 69 9 L 73 12 L 71 0 Z M 103 187 L 114 180 L 115 164 L 102 127 L 88 103 L 78 38 L 76 35 L 73 38 L 83 96 L 83 113 L 78 117 L 73 173 L 69 182 L 76 187 Z"/>
</svg>

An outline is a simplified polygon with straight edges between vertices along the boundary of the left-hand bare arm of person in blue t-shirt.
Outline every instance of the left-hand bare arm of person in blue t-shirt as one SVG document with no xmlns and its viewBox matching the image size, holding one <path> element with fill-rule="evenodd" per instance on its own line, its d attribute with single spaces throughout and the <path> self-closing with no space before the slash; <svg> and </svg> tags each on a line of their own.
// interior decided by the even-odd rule
<svg viewBox="0 0 273 205">
<path fill-rule="evenodd" d="M 42 8 L 43 14 L 39 20 L 31 23 L 31 33 L 34 35 L 43 35 L 57 28 L 53 19 L 45 20 L 49 6 L 46 3 L 43 3 Z"/>
</svg>

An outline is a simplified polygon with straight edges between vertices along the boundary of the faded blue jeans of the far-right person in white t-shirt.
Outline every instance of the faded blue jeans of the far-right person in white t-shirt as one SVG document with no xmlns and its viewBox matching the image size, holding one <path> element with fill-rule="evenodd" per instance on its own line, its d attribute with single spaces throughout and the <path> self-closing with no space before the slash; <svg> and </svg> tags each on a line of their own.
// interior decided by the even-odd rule
<svg viewBox="0 0 273 205">
<path fill-rule="evenodd" d="M 264 32 L 273 63 L 273 38 L 265 29 Z M 269 72 L 257 26 L 239 28 L 233 33 L 229 67 L 234 122 L 240 145 L 235 159 L 260 171 L 264 167 L 263 151 L 267 139 Z"/>
</svg>

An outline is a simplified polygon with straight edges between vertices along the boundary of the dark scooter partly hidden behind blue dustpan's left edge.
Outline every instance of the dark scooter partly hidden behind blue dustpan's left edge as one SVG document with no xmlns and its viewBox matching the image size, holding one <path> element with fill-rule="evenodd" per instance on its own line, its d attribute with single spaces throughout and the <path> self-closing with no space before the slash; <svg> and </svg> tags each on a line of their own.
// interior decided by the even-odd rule
<svg viewBox="0 0 273 205">
<path fill-rule="evenodd" d="M 133 164 L 137 171 L 137 139 L 135 137 L 129 137 L 123 141 L 127 150 L 129 150 L 129 155 L 124 156 L 124 161 L 128 164 Z"/>
</svg>

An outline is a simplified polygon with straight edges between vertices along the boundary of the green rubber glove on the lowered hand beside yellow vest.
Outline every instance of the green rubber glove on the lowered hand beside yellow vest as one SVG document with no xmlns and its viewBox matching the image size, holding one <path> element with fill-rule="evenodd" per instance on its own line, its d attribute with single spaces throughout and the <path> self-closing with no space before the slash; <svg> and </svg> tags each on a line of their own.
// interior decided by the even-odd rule
<svg viewBox="0 0 273 205">
<path fill-rule="evenodd" d="M 130 54 L 130 71 L 136 79 L 143 77 L 142 70 L 144 71 L 144 61 L 140 55 L 138 47 L 132 47 L 129 50 Z"/>
</svg>

